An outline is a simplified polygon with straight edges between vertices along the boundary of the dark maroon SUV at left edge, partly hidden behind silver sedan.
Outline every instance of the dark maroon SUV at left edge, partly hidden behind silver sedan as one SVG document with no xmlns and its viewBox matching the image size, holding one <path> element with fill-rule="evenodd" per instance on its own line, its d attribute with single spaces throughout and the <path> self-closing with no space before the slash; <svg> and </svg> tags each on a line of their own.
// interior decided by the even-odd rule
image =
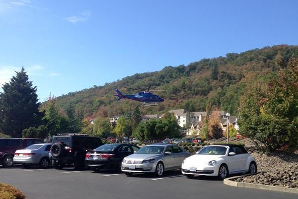
<svg viewBox="0 0 298 199">
<path fill-rule="evenodd" d="M 39 143 L 43 143 L 43 141 L 36 138 L 0 138 L 0 165 L 12 167 L 16 150 Z"/>
</svg>

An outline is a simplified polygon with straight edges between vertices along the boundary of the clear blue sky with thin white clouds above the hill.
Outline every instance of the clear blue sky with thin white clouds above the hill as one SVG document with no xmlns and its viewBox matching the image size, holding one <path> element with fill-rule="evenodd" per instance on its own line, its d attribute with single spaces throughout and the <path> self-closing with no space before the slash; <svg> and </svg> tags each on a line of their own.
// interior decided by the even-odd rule
<svg viewBox="0 0 298 199">
<path fill-rule="evenodd" d="M 298 0 L 0 0 L 0 86 L 24 67 L 41 102 L 280 44 L 298 45 Z"/>
</svg>

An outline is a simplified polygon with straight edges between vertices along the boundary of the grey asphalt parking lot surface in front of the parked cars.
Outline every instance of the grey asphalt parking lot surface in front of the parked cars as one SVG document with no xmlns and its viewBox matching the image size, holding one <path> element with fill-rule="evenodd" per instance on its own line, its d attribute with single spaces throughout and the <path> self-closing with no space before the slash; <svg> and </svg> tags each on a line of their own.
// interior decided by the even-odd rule
<svg viewBox="0 0 298 199">
<path fill-rule="evenodd" d="M 102 170 L 76 171 L 0 166 L 0 182 L 15 186 L 27 199 L 297 199 L 296 194 L 224 185 L 211 177 L 188 179 L 179 170 L 162 178 L 149 174 L 127 177 Z"/>
</svg>

